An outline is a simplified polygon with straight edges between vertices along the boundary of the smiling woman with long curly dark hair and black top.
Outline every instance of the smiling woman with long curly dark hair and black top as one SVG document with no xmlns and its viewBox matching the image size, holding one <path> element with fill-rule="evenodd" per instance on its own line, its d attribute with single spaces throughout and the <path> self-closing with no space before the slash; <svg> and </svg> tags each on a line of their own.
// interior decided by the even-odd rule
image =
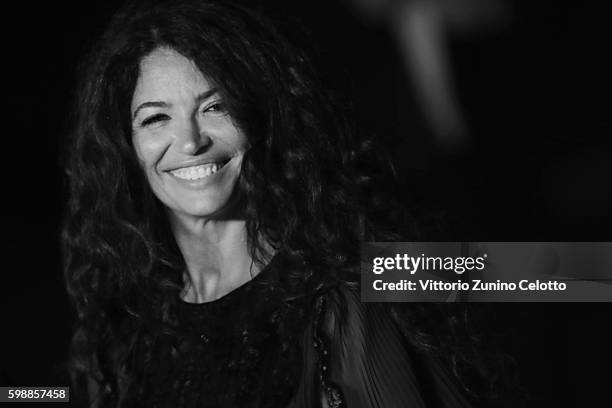
<svg viewBox="0 0 612 408">
<path fill-rule="evenodd" d="M 375 156 L 265 19 L 125 7 L 75 124 L 63 242 L 88 404 L 468 406 L 416 326 L 360 303 L 359 244 L 390 237 Z"/>
</svg>

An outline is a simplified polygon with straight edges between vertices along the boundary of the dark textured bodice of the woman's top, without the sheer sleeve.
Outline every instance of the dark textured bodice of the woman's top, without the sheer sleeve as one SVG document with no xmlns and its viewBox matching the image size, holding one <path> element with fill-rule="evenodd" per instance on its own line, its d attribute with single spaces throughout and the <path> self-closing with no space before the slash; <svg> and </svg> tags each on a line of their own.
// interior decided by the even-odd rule
<svg viewBox="0 0 612 408">
<path fill-rule="evenodd" d="M 178 305 L 179 333 L 154 351 L 143 406 L 285 407 L 302 372 L 308 299 L 282 301 L 273 265 L 207 303 Z"/>
</svg>

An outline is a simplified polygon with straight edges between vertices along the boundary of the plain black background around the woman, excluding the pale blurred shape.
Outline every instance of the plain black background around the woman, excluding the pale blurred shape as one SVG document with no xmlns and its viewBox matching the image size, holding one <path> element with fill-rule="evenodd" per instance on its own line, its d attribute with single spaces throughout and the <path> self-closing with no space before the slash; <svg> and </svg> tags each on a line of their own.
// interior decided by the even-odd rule
<svg viewBox="0 0 612 408">
<path fill-rule="evenodd" d="M 118 4 L 17 2 L 3 10 L 1 385 L 67 385 L 61 362 L 72 311 L 59 254 L 58 152 L 75 65 Z M 612 241 L 603 10 L 509 1 L 503 27 L 449 36 L 470 141 L 448 151 L 433 142 L 382 23 L 364 22 L 348 1 L 251 4 L 303 28 L 327 83 L 393 152 L 404 186 L 398 197 L 445 220 L 440 239 Z M 609 404 L 612 304 L 488 307 L 529 407 Z"/>
</svg>

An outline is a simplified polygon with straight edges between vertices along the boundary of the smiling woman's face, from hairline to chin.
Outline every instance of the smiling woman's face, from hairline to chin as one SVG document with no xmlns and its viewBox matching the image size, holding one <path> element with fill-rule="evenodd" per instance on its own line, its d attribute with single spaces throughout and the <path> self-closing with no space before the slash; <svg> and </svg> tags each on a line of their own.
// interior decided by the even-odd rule
<svg viewBox="0 0 612 408">
<path fill-rule="evenodd" d="M 169 48 L 143 58 L 131 113 L 134 149 L 168 209 L 210 217 L 228 204 L 247 138 L 192 61 Z"/>
</svg>

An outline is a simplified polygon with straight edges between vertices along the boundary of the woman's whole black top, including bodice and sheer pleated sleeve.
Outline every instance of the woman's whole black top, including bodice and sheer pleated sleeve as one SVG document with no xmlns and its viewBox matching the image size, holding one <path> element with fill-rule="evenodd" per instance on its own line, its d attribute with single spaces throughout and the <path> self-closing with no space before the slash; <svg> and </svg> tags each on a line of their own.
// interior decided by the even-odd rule
<svg viewBox="0 0 612 408">
<path fill-rule="evenodd" d="M 286 300 L 269 284 L 277 258 L 215 301 L 179 302 L 179 332 L 155 348 L 143 406 L 468 406 L 433 359 L 414 364 L 384 305 L 361 303 L 348 280 Z"/>
</svg>

